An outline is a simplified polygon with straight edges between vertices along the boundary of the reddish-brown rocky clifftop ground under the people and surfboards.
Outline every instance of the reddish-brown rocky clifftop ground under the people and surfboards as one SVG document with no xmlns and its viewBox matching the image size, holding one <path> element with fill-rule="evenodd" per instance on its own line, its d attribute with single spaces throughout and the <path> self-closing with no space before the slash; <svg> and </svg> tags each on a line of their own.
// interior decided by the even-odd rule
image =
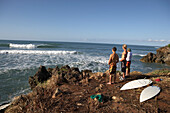
<svg viewBox="0 0 170 113">
<path fill-rule="evenodd" d="M 170 112 L 169 82 L 170 70 L 160 70 L 143 75 L 132 72 L 126 81 L 120 81 L 117 72 L 116 84 L 108 85 L 109 74 L 91 70 L 79 71 L 68 65 L 61 68 L 40 66 L 30 77 L 32 92 L 15 97 L 5 113 L 158 113 Z M 161 93 L 146 102 L 140 103 L 140 93 L 144 88 L 120 91 L 127 82 L 148 78 L 161 88 Z M 162 81 L 156 82 L 160 78 Z M 100 95 L 92 99 L 91 96 Z"/>
</svg>

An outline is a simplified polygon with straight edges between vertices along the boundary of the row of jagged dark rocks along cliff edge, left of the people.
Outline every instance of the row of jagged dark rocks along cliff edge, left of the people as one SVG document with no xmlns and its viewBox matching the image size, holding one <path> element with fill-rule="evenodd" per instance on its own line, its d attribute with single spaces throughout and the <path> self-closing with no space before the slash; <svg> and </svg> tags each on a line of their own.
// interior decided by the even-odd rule
<svg viewBox="0 0 170 113">
<path fill-rule="evenodd" d="M 29 84 L 31 89 L 34 89 L 38 84 L 47 81 L 50 77 L 55 78 L 54 80 L 57 84 L 71 83 L 76 84 L 82 79 L 89 78 L 91 70 L 80 70 L 77 67 L 70 68 L 68 65 L 65 65 L 61 68 L 56 66 L 55 68 L 46 68 L 44 66 L 40 66 L 39 70 L 34 76 L 29 77 Z"/>
</svg>

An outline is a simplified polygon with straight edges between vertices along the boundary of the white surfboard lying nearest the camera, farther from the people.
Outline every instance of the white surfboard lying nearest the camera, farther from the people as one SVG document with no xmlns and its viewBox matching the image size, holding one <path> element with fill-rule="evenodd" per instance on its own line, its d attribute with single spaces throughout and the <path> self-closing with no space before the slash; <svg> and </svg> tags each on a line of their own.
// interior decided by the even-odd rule
<svg viewBox="0 0 170 113">
<path fill-rule="evenodd" d="M 140 102 L 146 101 L 156 96 L 160 91 L 161 91 L 160 88 L 157 86 L 149 86 L 145 88 L 140 94 Z"/>
</svg>

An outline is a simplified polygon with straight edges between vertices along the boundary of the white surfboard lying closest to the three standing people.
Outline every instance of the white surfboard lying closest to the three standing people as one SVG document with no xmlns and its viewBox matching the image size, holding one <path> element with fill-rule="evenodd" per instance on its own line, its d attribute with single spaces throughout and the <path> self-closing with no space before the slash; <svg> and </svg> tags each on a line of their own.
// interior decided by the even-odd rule
<svg viewBox="0 0 170 113">
<path fill-rule="evenodd" d="M 130 81 L 130 82 L 126 83 L 125 85 L 123 85 L 123 87 L 120 90 L 139 88 L 139 87 L 143 87 L 148 84 L 151 84 L 151 83 L 152 83 L 152 81 L 149 79 L 133 80 L 133 81 Z"/>
</svg>

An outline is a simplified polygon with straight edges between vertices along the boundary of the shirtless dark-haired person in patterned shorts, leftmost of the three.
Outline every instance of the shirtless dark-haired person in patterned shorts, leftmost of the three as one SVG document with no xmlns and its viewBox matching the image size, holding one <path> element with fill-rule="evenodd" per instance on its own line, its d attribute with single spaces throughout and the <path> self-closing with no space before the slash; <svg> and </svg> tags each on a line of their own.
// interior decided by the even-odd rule
<svg viewBox="0 0 170 113">
<path fill-rule="evenodd" d="M 116 81 L 116 64 L 119 62 L 119 56 L 116 54 L 116 47 L 112 48 L 112 54 L 109 58 L 109 82 L 107 84 L 112 84 L 112 75 L 114 75 L 114 82 Z"/>
</svg>

